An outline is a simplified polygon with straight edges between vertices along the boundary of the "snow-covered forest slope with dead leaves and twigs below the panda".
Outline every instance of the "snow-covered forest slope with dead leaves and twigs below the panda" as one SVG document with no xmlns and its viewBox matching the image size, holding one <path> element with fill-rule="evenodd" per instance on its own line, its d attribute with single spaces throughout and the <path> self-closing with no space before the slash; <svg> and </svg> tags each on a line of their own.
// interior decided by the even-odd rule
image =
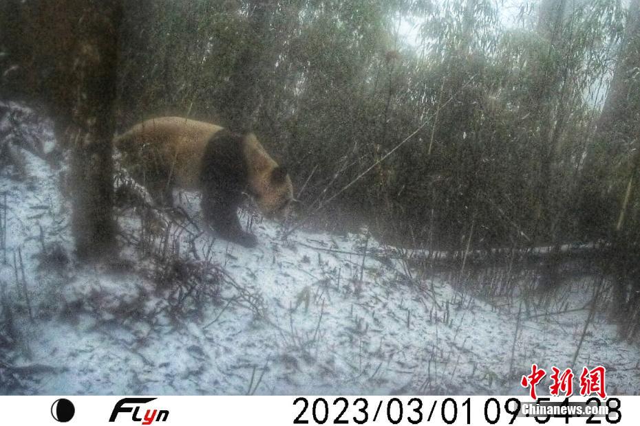
<svg viewBox="0 0 640 426">
<path fill-rule="evenodd" d="M 570 367 L 586 320 L 523 318 L 514 343 L 517 302 L 385 259 L 396 251 L 365 229 L 283 240 L 244 214 L 259 238 L 246 249 L 198 231 L 197 194 L 181 194 L 193 223 L 122 205 L 120 258 L 81 265 L 64 172 L 24 155 L 25 180 L 0 175 L 3 394 L 522 394 L 532 363 Z M 640 394 L 640 352 L 615 336 L 597 316 L 577 369 L 601 364 L 610 394 Z"/>
</svg>

